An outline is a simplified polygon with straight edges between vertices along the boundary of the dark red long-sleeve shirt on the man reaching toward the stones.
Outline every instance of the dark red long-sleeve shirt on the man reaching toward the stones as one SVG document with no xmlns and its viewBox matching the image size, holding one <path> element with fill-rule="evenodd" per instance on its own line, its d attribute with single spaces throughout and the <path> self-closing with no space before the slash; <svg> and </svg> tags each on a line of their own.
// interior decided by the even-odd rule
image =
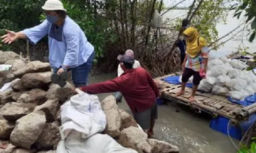
<svg viewBox="0 0 256 153">
<path fill-rule="evenodd" d="M 142 67 L 126 70 L 120 77 L 81 88 L 89 94 L 120 91 L 132 112 L 143 112 L 156 103 L 159 90 L 151 75 Z"/>
</svg>

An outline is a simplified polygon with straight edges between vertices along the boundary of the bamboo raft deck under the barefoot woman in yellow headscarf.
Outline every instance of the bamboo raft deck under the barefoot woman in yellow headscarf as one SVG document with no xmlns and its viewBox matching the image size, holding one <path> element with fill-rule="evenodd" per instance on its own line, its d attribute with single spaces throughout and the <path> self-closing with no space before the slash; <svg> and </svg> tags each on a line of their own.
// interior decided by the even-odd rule
<svg viewBox="0 0 256 153">
<path fill-rule="evenodd" d="M 192 93 L 191 88 L 186 88 L 184 95 L 176 97 L 175 94 L 180 91 L 181 85 L 170 84 L 164 82 L 162 79 L 178 74 L 180 73 L 169 74 L 154 79 L 155 82 L 159 83 L 162 89 L 163 98 L 184 105 L 189 105 L 192 109 L 198 110 L 199 112 L 202 110 L 211 114 L 213 117 L 218 115 L 224 116 L 231 119 L 233 122 L 247 120 L 250 114 L 256 112 L 256 103 L 248 107 L 244 107 L 231 103 L 225 96 L 200 91 L 196 92 L 195 101 L 193 103 L 189 103 L 189 97 Z"/>
</svg>

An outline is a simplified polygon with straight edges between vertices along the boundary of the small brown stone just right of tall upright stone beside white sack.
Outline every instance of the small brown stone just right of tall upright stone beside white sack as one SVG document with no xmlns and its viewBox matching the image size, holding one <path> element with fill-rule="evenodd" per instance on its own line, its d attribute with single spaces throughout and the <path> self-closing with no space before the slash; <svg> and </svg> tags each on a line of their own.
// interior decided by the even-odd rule
<svg viewBox="0 0 256 153">
<path fill-rule="evenodd" d="M 130 126 L 138 127 L 138 124 L 132 115 L 130 115 L 129 113 L 125 112 L 124 110 L 120 110 L 120 109 L 119 109 L 119 114 L 121 117 L 120 131 L 122 131 L 123 129 L 126 129 L 127 127 L 130 127 Z"/>
</svg>

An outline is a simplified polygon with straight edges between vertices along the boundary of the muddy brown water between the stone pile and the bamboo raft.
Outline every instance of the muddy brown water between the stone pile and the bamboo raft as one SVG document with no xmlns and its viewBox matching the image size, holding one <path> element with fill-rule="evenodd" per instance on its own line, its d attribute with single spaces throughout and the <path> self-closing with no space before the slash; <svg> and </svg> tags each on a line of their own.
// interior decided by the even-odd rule
<svg viewBox="0 0 256 153">
<path fill-rule="evenodd" d="M 116 74 L 90 76 L 89 84 L 109 80 Z M 100 100 L 113 93 L 98 94 Z M 119 108 L 131 113 L 124 99 Z M 179 111 L 177 111 L 177 109 Z M 196 114 L 189 108 L 168 103 L 158 107 L 158 120 L 155 125 L 155 138 L 177 145 L 181 153 L 234 153 L 236 148 L 228 136 L 209 127 L 207 114 Z M 234 140 L 238 145 L 239 141 Z"/>
</svg>

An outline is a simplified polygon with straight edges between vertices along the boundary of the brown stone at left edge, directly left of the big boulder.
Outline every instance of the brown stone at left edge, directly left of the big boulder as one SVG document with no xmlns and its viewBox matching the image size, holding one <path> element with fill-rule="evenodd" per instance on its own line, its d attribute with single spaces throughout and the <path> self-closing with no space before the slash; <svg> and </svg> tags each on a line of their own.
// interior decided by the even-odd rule
<svg viewBox="0 0 256 153">
<path fill-rule="evenodd" d="M 11 132 L 14 129 L 13 123 L 8 122 L 7 120 L 0 120 L 0 139 L 8 140 L 10 138 Z"/>
</svg>

